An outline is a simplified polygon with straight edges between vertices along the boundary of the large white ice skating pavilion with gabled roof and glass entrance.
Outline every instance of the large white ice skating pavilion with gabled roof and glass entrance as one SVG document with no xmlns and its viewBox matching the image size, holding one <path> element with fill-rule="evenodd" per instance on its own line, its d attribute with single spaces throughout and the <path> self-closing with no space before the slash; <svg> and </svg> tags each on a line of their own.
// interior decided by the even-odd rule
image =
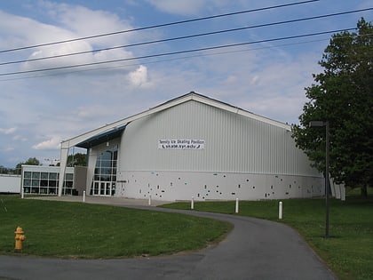
<svg viewBox="0 0 373 280">
<path fill-rule="evenodd" d="M 195 92 L 63 141 L 60 180 L 72 147 L 88 150 L 92 196 L 256 200 L 324 189 L 290 125 Z"/>
</svg>

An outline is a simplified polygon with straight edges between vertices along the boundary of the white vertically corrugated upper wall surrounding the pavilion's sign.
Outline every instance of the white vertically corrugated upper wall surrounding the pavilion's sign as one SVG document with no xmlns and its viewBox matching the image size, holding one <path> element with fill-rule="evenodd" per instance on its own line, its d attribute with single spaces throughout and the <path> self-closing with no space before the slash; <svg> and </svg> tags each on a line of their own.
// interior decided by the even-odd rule
<svg viewBox="0 0 373 280">
<path fill-rule="evenodd" d="M 204 149 L 159 149 L 158 140 L 205 140 Z M 189 100 L 128 124 L 120 171 L 198 171 L 320 176 L 291 132 Z"/>
</svg>

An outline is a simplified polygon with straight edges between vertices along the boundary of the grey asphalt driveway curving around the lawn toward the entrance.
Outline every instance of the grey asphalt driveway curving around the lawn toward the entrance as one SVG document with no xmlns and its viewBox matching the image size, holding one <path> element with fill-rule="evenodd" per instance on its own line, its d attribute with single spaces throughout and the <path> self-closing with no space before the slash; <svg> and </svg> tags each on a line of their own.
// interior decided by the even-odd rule
<svg viewBox="0 0 373 280">
<path fill-rule="evenodd" d="M 234 229 L 215 247 L 174 256 L 122 260 L 0 256 L 0 279 L 336 279 L 298 233 L 281 223 L 148 207 L 147 202 L 110 202 L 107 204 L 226 220 Z"/>
</svg>

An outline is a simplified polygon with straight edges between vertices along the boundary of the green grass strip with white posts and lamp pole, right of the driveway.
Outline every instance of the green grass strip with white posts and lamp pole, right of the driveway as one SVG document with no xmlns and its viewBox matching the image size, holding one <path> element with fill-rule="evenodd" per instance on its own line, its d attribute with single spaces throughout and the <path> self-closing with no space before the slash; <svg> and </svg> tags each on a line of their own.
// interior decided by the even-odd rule
<svg viewBox="0 0 373 280">
<path fill-rule="evenodd" d="M 325 239 L 325 200 L 283 200 L 283 219 L 304 236 L 340 279 L 373 279 L 373 197 L 330 200 L 329 239 Z M 277 200 L 241 201 L 239 215 L 278 220 Z M 189 203 L 163 205 L 190 209 Z M 194 210 L 234 214 L 235 202 L 194 203 Z"/>
</svg>

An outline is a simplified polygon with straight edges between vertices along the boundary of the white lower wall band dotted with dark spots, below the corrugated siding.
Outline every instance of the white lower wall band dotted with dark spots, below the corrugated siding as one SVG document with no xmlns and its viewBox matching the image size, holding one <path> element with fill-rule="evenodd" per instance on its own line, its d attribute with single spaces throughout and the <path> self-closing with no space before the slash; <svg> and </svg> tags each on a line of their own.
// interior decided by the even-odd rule
<svg viewBox="0 0 373 280">
<path fill-rule="evenodd" d="M 318 177 L 234 172 L 119 172 L 115 196 L 155 200 L 258 200 L 322 196 Z"/>
</svg>

